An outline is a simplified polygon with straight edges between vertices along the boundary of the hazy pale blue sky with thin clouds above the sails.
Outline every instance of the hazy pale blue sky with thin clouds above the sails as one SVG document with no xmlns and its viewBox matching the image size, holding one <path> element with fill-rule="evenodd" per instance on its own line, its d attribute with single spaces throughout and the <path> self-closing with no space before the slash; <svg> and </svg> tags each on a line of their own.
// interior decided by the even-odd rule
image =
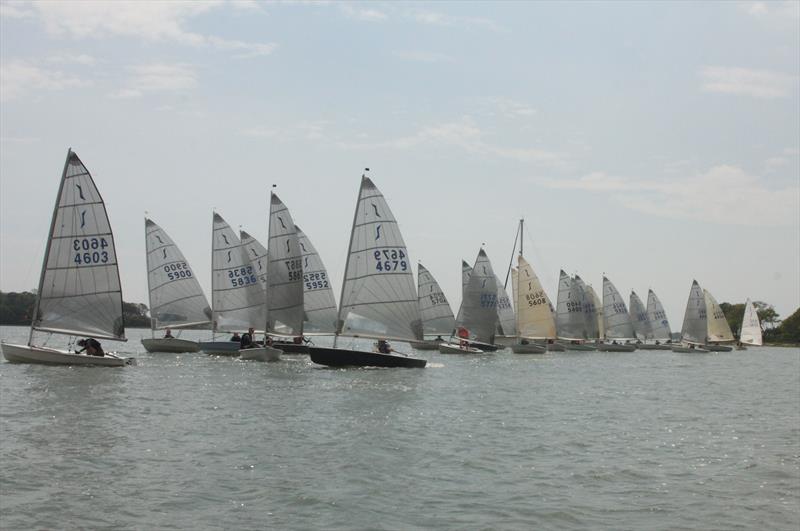
<svg viewBox="0 0 800 531">
<path fill-rule="evenodd" d="M 210 287 L 217 211 L 281 199 L 337 296 L 364 167 L 454 311 L 482 243 L 648 288 L 800 305 L 800 3 L 7 2 L 0 289 L 38 285 L 67 148 L 147 303 L 144 215 Z"/>
</svg>

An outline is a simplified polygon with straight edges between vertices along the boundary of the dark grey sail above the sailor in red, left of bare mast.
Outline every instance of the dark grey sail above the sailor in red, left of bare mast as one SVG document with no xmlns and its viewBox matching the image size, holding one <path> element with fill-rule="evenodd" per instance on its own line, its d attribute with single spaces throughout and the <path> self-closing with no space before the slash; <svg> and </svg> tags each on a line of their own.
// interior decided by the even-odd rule
<svg viewBox="0 0 800 531">
<path fill-rule="evenodd" d="M 492 264 L 481 249 L 464 289 L 458 311 L 457 327 L 466 328 L 470 337 L 483 343 L 494 343 L 497 323 L 497 280 Z"/>
</svg>

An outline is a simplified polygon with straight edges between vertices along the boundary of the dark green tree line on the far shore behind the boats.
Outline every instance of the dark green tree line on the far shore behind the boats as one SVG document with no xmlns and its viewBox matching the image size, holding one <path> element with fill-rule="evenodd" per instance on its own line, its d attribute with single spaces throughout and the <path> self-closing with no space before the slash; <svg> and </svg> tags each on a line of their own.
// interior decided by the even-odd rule
<svg viewBox="0 0 800 531">
<path fill-rule="evenodd" d="M 26 326 L 31 324 L 35 303 L 36 295 L 29 291 L 21 293 L 0 291 L 0 325 Z M 765 342 L 800 343 L 800 309 L 781 320 L 771 304 L 757 301 L 753 305 L 756 307 L 758 318 L 761 321 Z M 720 307 L 725 313 L 725 318 L 728 320 L 734 336 L 739 337 L 739 329 L 744 316 L 744 304 L 723 302 Z M 146 304 L 123 302 L 122 314 L 125 318 L 125 326 L 150 328 L 149 309 Z"/>
</svg>

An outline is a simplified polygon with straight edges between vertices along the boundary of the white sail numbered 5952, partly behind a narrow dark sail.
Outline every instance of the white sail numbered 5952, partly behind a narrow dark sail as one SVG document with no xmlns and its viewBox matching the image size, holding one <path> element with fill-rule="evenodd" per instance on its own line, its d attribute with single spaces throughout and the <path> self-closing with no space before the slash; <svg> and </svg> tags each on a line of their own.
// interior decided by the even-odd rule
<svg viewBox="0 0 800 531">
<path fill-rule="evenodd" d="M 303 259 L 303 330 L 333 334 L 336 331 L 336 300 L 328 270 L 308 236 L 297 225 L 294 228 Z"/>
</svg>

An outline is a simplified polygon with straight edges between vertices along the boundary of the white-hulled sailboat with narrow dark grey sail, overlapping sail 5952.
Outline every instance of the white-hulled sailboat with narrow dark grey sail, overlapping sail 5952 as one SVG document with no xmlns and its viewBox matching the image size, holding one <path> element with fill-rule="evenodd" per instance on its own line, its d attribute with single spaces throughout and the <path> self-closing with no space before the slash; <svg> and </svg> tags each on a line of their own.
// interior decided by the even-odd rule
<svg viewBox="0 0 800 531">
<path fill-rule="evenodd" d="M 277 361 L 283 352 L 307 354 L 303 336 L 303 259 L 292 215 L 275 192 L 270 194 L 267 244 L 267 296 L 264 330 L 272 345 L 240 350 L 242 359 Z M 294 339 L 297 341 L 294 342 Z"/>
</svg>

